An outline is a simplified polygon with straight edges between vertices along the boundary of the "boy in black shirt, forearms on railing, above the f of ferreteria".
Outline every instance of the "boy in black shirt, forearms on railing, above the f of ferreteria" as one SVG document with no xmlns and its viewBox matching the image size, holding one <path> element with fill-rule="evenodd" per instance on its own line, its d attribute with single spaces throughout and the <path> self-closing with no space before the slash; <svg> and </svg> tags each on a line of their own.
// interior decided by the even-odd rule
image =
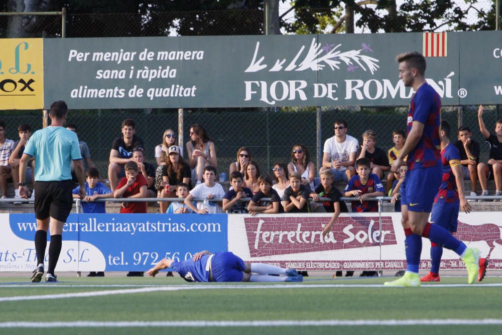
<svg viewBox="0 0 502 335">
<path fill-rule="evenodd" d="M 251 198 L 247 211 L 252 216 L 256 214 L 277 214 L 282 212 L 281 198 L 276 190 L 272 189 L 272 178 L 269 175 L 258 177 L 260 190 Z M 261 200 L 262 198 L 271 198 L 271 200 Z"/>
</svg>

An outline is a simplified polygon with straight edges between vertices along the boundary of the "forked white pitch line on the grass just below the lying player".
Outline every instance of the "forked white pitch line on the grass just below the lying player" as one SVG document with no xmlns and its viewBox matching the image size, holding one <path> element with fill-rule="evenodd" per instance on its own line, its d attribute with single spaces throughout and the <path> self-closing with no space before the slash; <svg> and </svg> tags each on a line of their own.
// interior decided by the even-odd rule
<svg viewBox="0 0 502 335">
<path fill-rule="evenodd" d="M 90 287 L 97 285 L 33 285 L 37 287 Z M 103 287 L 105 285 L 101 285 Z M 502 283 L 498 284 L 478 284 L 478 285 L 468 285 L 468 284 L 437 284 L 437 285 L 424 285 L 422 287 L 498 287 L 502 286 Z M 10 285 L 2 285 L 0 287 L 13 287 Z M 27 285 L 18 285 L 15 287 L 31 287 Z M 113 285 L 113 287 L 117 287 Z M 62 294 L 41 294 L 41 295 L 21 295 L 21 296 L 7 296 L 0 297 L 0 302 L 4 301 L 26 301 L 26 300 L 39 300 L 39 299 L 64 299 L 64 298 L 77 298 L 77 297 L 90 297 L 90 296 L 102 296 L 102 295 L 114 295 L 114 294 L 134 294 L 134 293 L 145 293 L 145 292 L 157 292 L 157 291 L 177 291 L 177 290 L 192 290 L 192 289 L 228 289 L 228 288 L 346 288 L 346 287 L 375 287 L 375 288 L 386 288 L 382 284 L 371 284 L 371 285 L 305 285 L 305 284 L 278 284 L 278 285 L 173 285 L 173 286 L 156 286 L 156 287 L 141 287 L 141 288 L 130 288 L 130 289 L 114 289 L 114 290 L 102 290 L 102 291 L 90 291 L 90 292 L 75 292 L 75 293 L 62 293 Z M 395 288 L 395 287 L 391 287 Z"/>
</svg>

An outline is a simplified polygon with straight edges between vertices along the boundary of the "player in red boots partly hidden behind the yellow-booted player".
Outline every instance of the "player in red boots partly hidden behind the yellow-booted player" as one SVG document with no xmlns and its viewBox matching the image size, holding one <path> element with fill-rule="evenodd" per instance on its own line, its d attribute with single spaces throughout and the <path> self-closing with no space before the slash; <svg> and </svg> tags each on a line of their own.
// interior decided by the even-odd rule
<svg viewBox="0 0 502 335">
<path fill-rule="evenodd" d="M 441 160 L 443 164 L 443 179 L 432 206 L 431 223 L 437 224 L 452 234 L 457 231 L 458 211 L 469 213 L 471 207 L 465 199 L 463 174 L 460 164 L 460 152 L 450 143 L 450 125 L 441 121 Z M 420 281 L 440 281 L 439 265 L 443 247 L 431 241 L 431 270 L 420 278 Z M 486 258 L 479 259 L 477 281 L 486 274 Z"/>
</svg>

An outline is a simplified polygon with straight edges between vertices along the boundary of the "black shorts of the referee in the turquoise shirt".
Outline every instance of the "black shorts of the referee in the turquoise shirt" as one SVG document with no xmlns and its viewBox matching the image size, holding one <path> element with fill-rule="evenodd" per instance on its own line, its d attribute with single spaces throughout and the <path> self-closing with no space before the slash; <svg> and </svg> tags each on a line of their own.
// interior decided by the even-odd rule
<svg viewBox="0 0 502 335">
<path fill-rule="evenodd" d="M 35 217 L 45 220 L 49 216 L 66 222 L 73 207 L 71 180 L 37 181 L 35 183 Z"/>
</svg>

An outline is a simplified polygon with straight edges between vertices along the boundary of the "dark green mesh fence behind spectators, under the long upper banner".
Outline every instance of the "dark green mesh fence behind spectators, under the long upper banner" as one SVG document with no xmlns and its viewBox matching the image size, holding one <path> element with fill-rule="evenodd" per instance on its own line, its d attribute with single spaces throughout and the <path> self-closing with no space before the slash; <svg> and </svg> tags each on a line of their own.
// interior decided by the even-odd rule
<svg viewBox="0 0 502 335">
<path fill-rule="evenodd" d="M 477 123 L 478 106 L 445 107 L 442 119 L 447 120 L 452 129 L 460 123 L 471 128 L 473 139 L 481 144 L 481 161 L 488 158 L 489 147 L 479 132 Z M 307 146 L 311 160 L 316 161 L 316 153 L 322 155 L 324 141 L 333 136 L 333 122 L 345 119 L 348 124 L 347 134 L 361 142 L 361 135 L 367 129 L 378 134 L 376 145 L 384 150 L 393 146 L 392 131 L 406 128 L 407 107 L 401 108 L 364 108 L 334 107 L 321 108 L 320 148 L 316 148 L 317 115 L 315 108 L 284 108 L 271 110 L 229 110 L 206 109 L 185 110 L 183 134 L 185 142 L 189 139 L 190 125 L 199 123 L 204 126 L 216 145 L 218 170 L 228 172 L 231 162 L 236 159 L 236 151 L 241 146 L 250 148 L 253 159 L 263 172 L 271 173 L 275 162 L 288 162 L 294 144 Z M 42 128 L 40 111 L 0 112 L 6 121 L 6 136 L 18 139 L 17 127 L 22 122 L 31 124 L 33 130 Z M 178 110 L 94 110 L 70 111 L 68 122 L 77 125 L 78 136 L 89 145 L 91 158 L 100 173 L 106 175 L 111 143 L 119 137 L 123 119 L 132 118 L 146 147 L 146 158 L 155 163 L 154 148 L 162 141 L 162 134 L 167 128 L 178 131 Z M 502 112 L 496 106 L 485 106 L 483 119 L 486 127 L 492 130 L 495 121 L 502 118 Z M 452 141 L 456 132 L 452 131 Z M 184 145 L 184 144 L 183 144 Z M 185 150 L 186 155 L 186 150 Z"/>
</svg>

